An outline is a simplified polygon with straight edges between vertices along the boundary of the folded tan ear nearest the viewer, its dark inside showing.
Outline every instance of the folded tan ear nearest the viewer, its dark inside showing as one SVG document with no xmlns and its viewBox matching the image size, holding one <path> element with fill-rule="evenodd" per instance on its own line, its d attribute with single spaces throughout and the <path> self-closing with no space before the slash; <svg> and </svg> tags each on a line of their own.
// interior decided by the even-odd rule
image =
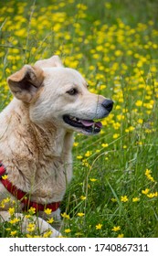
<svg viewBox="0 0 158 256">
<path fill-rule="evenodd" d="M 29 103 L 42 86 L 43 70 L 38 67 L 25 65 L 22 69 L 7 79 L 10 90 L 18 100 Z"/>
</svg>

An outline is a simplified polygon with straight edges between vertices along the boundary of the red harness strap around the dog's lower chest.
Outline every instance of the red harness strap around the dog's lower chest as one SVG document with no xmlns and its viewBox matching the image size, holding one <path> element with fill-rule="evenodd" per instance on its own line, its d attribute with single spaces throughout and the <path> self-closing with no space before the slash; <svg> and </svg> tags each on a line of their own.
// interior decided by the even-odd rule
<svg viewBox="0 0 158 256">
<path fill-rule="evenodd" d="M 52 211 L 56 211 L 59 208 L 60 202 L 53 202 L 51 204 L 38 204 L 36 202 L 30 201 L 30 195 L 28 193 L 18 189 L 14 186 L 7 178 L 3 179 L 2 176 L 5 175 L 5 166 L 0 161 L 0 180 L 4 187 L 14 196 L 17 200 L 24 204 L 23 210 L 27 210 L 30 207 L 36 208 L 36 211 L 44 211 L 46 208 L 50 208 Z M 28 196 L 28 197 L 27 197 Z"/>
</svg>

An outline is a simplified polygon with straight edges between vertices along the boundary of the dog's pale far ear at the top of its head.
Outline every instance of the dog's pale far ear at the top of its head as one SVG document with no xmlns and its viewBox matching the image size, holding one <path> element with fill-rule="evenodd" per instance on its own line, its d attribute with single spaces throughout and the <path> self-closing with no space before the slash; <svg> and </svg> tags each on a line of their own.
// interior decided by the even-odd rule
<svg viewBox="0 0 158 256">
<path fill-rule="evenodd" d="M 51 68 L 51 67 L 63 67 L 61 59 L 59 59 L 58 55 L 54 55 L 49 59 L 41 59 L 37 60 L 35 63 L 35 67 L 39 68 Z"/>
</svg>

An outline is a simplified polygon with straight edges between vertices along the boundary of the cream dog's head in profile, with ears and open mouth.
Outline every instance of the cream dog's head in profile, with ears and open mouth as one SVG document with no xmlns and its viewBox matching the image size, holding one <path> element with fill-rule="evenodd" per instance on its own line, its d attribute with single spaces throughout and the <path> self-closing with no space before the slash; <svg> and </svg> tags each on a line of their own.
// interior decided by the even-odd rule
<svg viewBox="0 0 158 256">
<path fill-rule="evenodd" d="M 15 97 L 27 104 L 32 122 L 53 123 L 68 131 L 99 133 L 98 120 L 109 115 L 113 101 L 88 91 L 75 69 L 64 68 L 58 56 L 25 65 L 7 82 Z"/>
</svg>

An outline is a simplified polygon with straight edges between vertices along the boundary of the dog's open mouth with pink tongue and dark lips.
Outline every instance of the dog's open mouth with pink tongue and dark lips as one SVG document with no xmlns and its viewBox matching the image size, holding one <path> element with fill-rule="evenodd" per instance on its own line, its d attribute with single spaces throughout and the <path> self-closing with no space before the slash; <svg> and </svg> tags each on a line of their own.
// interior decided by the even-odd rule
<svg viewBox="0 0 158 256">
<path fill-rule="evenodd" d="M 94 122 L 93 120 L 84 120 L 71 115 L 64 115 L 63 120 L 70 126 L 79 128 L 87 133 L 100 133 L 102 123 Z"/>
</svg>

